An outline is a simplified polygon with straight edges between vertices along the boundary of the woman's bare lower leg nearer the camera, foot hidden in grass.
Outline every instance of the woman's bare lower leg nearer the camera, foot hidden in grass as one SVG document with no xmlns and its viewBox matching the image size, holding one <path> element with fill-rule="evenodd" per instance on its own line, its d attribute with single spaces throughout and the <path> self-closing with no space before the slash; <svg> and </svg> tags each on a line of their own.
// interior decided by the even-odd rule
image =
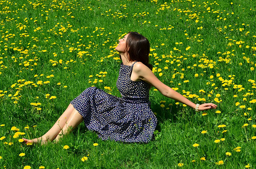
<svg viewBox="0 0 256 169">
<path fill-rule="evenodd" d="M 71 115 L 69 116 L 67 123 L 64 125 L 64 127 L 62 128 L 62 130 L 59 132 L 59 134 L 56 136 L 54 140 L 59 141 L 62 135 L 70 133 L 82 121 L 83 121 L 82 115 L 76 109 L 74 109 Z"/>
</svg>

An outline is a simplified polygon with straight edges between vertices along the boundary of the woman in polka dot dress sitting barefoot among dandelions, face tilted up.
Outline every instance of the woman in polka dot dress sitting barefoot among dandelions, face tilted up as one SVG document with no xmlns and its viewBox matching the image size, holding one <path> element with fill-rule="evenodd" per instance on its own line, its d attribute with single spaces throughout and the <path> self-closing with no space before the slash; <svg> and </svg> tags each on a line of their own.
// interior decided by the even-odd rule
<svg viewBox="0 0 256 169">
<path fill-rule="evenodd" d="M 150 109 L 149 89 L 154 86 L 164 96 L 184 103 L 196 111 L 216 109 L 217 105 L 195 104 L 163 84 L 151 71 L 148 63 L 150 44 L 137 32 L 129 32 L 119 39 L 116 50 L 120 65 L 117 89 L 122 98 L 107 94 L 97 87 L 89 87 L 70 102 L 53 127 L 42 137 L 24 139 L 25 143 L 44 144 L 74 130 L 82 121 L 89 130 L 97 131 L 102 140 L 147 143 L 153 138 L 157 118 Z"/>
</svg>

